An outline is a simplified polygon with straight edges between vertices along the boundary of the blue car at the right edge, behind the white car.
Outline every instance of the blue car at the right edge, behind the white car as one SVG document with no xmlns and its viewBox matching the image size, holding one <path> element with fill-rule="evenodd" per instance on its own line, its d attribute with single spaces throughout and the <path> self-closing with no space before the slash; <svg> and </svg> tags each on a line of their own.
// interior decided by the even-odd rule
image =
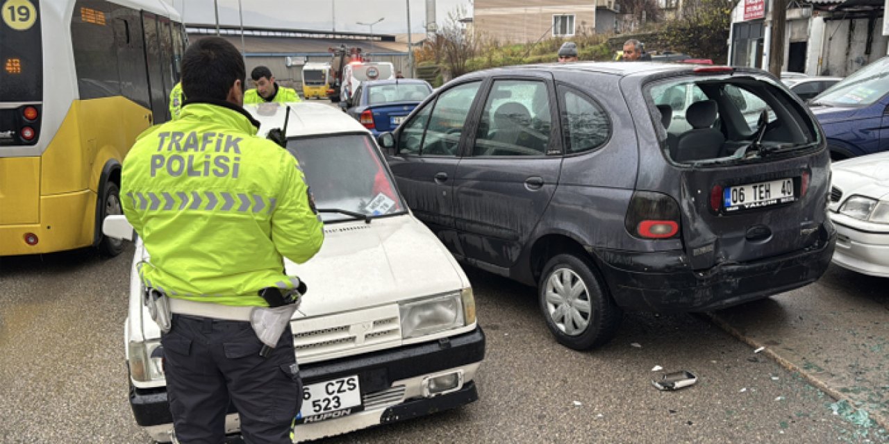
<svg viewBox="0 0 889 444">
<path fill-rule="evenodd" d="M 862 67 L 809 103 L 830 158 L 889 151 L 889 57 Z"/>
</svg>

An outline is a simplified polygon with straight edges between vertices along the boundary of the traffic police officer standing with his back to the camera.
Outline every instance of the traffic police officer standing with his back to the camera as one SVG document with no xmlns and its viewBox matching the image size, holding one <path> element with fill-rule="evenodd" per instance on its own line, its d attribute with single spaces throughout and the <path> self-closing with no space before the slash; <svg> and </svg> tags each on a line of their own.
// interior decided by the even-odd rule
<svg viewBox="0 0 889 444">
<path fill-rule="evenodd" d="M 180 118 L 140 135 L 124 160 L 124 215 L 150 254 L 140 278 L 172 312 L 161 343 L 175 438 L 186 443 L 222 442 L 229 400 L 244 440 L 289 443 L 302 396 L 289 322 L 264 357 L 250 313 L 268 306 L 260 290 L 299 285 L 283 257 L 312 258 L 323 226 L 296 159 L 256 137 L 244 76 L 224 39 L 188 46 Z"/>
</svg>

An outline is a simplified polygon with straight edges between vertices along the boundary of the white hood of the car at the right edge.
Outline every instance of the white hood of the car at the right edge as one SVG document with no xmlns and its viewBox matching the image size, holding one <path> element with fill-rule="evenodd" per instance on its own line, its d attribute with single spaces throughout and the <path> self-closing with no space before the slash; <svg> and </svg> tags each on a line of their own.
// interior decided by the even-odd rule
<svg viewBox="0 0 889 444">
<path fill-rule="evenodd" d="M 875 199 L 889 196 L 889 152 L 862 155 L 833 163 L 832 185 L 848 197 L 860 194 Z"/>
</svg>

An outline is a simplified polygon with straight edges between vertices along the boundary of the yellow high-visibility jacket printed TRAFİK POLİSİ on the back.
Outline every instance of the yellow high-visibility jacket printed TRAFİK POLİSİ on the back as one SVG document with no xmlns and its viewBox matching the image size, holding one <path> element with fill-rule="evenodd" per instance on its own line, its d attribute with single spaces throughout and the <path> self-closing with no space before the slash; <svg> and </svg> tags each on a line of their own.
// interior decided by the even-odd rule
<svg viewBox="0 0 889 444">
<path fill-rule="evenodd" d="M 189 102 L 126 155 L 121 201 L 151 256 L 140 265 L 147 286 L 236 306 L 268 306 L 260 289 L 294 288 L 282 257 L 312 258 L 323 226 L 296 158 L 258 127 L 228 102 Z"/>
</svg>

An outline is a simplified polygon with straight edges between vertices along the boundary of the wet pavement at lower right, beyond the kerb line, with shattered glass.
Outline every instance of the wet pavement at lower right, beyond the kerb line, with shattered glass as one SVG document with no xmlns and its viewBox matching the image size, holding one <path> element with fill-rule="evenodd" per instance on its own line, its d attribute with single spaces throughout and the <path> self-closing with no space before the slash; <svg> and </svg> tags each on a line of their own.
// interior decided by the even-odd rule
<svg viewBox="0 0 889 444">
<path fill-rule="evenodd" d="M 805 289 L 713 315 L 837 398 L 839 415 L 889 427 L 889 279 L 831 266 Z"/>
</svg>

